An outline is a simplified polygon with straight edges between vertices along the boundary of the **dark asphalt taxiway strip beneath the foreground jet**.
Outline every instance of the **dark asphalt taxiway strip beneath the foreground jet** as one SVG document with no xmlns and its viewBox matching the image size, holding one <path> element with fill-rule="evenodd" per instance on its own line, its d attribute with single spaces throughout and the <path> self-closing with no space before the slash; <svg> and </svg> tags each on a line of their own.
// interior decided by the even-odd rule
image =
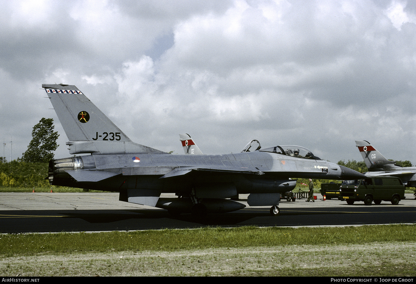
<svg viewBox="0 0 416 284">
<path fill-rule="evenodd" d="M 135 231 L 240 226 L 344 226 L 416 223 L 415 206 L 287 208 L 271 216 L 265 208 L 246 208 L 197 218 L 171 216 L 163 209 L 10 210 L 2 212 L 1 233 Z"/>
</svg>

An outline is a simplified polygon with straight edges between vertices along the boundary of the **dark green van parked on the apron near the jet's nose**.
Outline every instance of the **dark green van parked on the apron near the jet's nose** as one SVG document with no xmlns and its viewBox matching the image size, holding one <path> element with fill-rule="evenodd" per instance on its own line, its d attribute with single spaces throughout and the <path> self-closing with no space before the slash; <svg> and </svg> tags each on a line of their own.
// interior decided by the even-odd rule
<svg viewBox="0 0 416 284">
<path fill-rule="evenodd" d="M 344 181 L 339 187 L 339 200 L 352 205 L 355 201 L 364 201 L 365 205 L 379 205 L 381 201 L 390 201 L 397 205 L 405 199 L 404 185 L 398 177 L 368 177 L 361 180 Z"/>
</svg>

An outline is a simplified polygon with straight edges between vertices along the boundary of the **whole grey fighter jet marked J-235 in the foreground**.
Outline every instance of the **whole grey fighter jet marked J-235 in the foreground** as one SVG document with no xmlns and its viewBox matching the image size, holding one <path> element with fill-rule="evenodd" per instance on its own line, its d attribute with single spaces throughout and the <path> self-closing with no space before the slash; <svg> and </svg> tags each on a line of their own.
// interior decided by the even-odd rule
<svg viewBox="0 0 416 284">
<path fill-rule="evenodd" d="M 250 194 L 250 206 L 272 206 L 290 178 L 354 180 L 359 172 L 329 163 L 299 146 L 274 146 L 225 155 L 171 155 L 132 142 L 74 85 L 43 84 L 68 136 L 69 153 L 51 160 L 53 185 L 120 192 L 119 200 L 167 209 L 171 214 L 231 212 L 245 207 L 227 199 Z M 302 150 L 300 150 L 302 149 Z M 295 154 L 298 150 L 298 154 Z M 159 198 L 175 193 L 178 198 Z"/>
</svg>

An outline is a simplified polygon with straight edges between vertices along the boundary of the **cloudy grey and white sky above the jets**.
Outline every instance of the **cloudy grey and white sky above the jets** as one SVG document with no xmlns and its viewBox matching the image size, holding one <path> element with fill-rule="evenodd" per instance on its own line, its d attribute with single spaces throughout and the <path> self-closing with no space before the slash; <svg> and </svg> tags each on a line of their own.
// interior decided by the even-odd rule
<svg viewBox="0 0 416 284">
<path fill-rule="evenodd" d="M 0 139 L 21 157 L 42 83 L 76 85 L 131 140 L 205 154 L 300 145 L 416 164 L 416 1 L 0 0 Z"/>
</svg>

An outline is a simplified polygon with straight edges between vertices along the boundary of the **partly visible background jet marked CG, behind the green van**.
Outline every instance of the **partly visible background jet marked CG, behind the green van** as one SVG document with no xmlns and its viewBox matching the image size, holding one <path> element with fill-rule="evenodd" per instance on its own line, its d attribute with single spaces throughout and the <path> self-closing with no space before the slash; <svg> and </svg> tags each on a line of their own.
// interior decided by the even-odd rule
<svg viewBox="0 0 416 284">
<path fill-rule="evenodd" d="M 416 187 L 416 167 L 400 167 L 396 161 L 384 158 L 368 141 L 355 141 L 369 172 L 368 176 L 399 177 L 406 187 Z"/>
</svg>

